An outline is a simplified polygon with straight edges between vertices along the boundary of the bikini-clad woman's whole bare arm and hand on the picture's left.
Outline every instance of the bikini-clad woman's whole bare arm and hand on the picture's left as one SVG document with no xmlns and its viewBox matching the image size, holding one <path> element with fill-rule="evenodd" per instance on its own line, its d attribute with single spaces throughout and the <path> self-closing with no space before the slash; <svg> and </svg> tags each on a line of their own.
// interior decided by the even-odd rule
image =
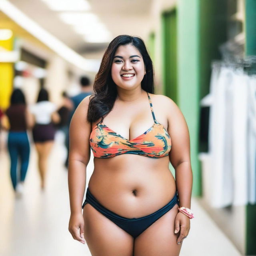
<svg viewBox="0 0 256 256">
<path fill-rule="evenodd" d="M 84 243 L 82 200 L 86 185 L 86 166 L 90 160 L 89 137 L 91 124 L 87 121 L 89 96 L 79 104 L 70 123 L 70 153 L 68 164 L 68 190 L 70 198 L 69 231 L 73 238 Z M 80 229 L 80 232 L 78 231 Z"/>
</svg>

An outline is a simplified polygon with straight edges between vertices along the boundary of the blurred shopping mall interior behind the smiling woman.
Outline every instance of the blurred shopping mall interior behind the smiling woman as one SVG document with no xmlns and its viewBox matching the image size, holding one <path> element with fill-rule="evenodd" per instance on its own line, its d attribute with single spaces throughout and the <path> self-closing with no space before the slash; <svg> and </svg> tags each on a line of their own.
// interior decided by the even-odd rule
<svg viewBox="0 0 256 256">
<path fill-rule="evenodd" d="M 156 94 L 172 98 L 188 123 L 196 218 L 180 255 L 256 255 L 255 0 L 0 0 L 0 255 L 90 255 L 68 233 L 66 128 L 120 34 L 144 40 Z M 17 124 L 24 112 L 13 110 L 14 89 L 42 126 L 52 118 L 48 149 L 40 132 L 26 133 L 28 114 Z M 91 159 L 87 185 L 92 170 Z"/>
</svg>

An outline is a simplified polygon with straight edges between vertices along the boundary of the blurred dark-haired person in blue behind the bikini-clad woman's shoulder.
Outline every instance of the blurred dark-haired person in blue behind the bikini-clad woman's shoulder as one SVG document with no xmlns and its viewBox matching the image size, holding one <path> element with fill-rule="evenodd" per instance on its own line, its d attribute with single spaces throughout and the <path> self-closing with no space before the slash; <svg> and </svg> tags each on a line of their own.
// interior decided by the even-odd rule
<svg viewBox="0 0 256 256">
<path fill-rule="evenodd" d="M 92 94 L 92 87 L 91 87 L 91 82 L 90 79 L 87 76 L 81 76 L 80 77 L 80 86 L 81 86 L 81 92 L 79 94 L 77 94 L 76 96 L 71 97 L 70 99 L 73 102 L 73 110 L 70 114 L 70 119 L 68 122 L 68 127 L 70 125 L 70 121 L 71 118 L 74 114 L 74 112 L 76 111 L 76 108 L 78 107 L 78 105 L 80 104 L 80 102 L 87 96 Z M 68 150 L 68 154 L 69 154 L 69 132 L 66 136 L 66 143 L 65 143 L 66 149 Z M 66 158 L 66 162 L 65 162 L 65 166 L 68 167 L 68 155 Z"/>
</svg>

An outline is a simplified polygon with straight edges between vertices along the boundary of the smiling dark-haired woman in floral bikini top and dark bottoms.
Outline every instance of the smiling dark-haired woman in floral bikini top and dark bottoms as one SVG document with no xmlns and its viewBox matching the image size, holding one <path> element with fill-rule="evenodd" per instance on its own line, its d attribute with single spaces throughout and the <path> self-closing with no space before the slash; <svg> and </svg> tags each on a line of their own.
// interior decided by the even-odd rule
<svg viewBox="0 0 256 256">
<path fill-rule="evenodd" d="M 188 235 L 192 214 L 178 210 L 191 200 L 188 128 L 170 98 L 153 94 L 153 84 L 144 42 L 117 36 L 102 58 L 96 94 L 72 118 L 69 231 L 86 240 L 92 256 L 179 255 Z M 90 147 L 94 172 L 82 214 Z"/>
</svg>

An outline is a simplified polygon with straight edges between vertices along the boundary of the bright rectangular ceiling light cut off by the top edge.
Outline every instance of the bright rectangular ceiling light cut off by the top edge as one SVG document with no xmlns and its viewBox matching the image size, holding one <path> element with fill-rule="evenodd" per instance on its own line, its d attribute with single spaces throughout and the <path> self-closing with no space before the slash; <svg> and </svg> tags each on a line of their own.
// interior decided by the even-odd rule
<svg viewBox="0 0 256 256">
<path fill-rule="evenodd" d="M 88 11 L 91 9 L 86 0 L 42 0 L 53 11 Z"/>
</svg>

